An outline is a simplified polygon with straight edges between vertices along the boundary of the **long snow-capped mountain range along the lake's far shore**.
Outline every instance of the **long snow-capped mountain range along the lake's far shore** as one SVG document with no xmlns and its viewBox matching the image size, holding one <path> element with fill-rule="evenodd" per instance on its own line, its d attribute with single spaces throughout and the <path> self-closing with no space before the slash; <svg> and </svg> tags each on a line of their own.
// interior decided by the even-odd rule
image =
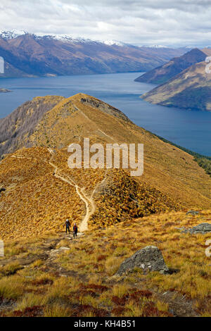
<svg viewBox="0 0 211 331">
<path fill-rule="evenodd" d="M 5 73 L 0 77 L 84 75 L 151 70 L 181 56 L 185 49 L 134 46 L 113 40 L 97 42 L 69 36 L 39 36 L 1 31 L 0 56 Z"/>
</svg>

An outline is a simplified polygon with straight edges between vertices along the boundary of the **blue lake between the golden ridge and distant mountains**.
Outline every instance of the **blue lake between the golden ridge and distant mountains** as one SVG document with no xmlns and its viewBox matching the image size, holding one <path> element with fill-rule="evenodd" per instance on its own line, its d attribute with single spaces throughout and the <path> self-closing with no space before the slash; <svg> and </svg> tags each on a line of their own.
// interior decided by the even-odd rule
<svg viewBox="0 0 211 331">
<path fill-rule="evenodd" d="M 6 78 L 0 87 L 0 118 L 34 96 L 72 96 L 84 92 L 123 111 L 136 125 L 200 154 L 211 156 L 211 112 L 148 104 L 139 96 L 155 85 L 134 82 L 141 73 Z"/>
</svg>

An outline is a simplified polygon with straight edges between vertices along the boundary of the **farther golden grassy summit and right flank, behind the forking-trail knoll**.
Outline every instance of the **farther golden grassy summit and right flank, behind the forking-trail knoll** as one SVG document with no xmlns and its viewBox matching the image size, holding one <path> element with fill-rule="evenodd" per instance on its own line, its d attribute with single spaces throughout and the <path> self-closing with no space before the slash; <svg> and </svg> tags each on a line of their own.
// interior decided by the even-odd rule
<svg viewBox="0 0 211 331">
<path fill-rule="evenodd" d="M 88 99 L 89 103 L 82 99 Z M 96 103 L 98 106 L 94 106 Z M 44 115 L 30 138 L 31 143 L 59 149 L 66 149 L 71 142 L 82 144 L 84 137 L 89 137 L 91 144 L 143 143 L 143 182 L 184 205 L 210 206 L 211 181 L 192 156 L 124 120 L 119 113 L 116 116 L 106 113 L 106 104 L 103 107 L 101 104 L 102 101 L 85 94 L 61 101 Z"/>
</svg>

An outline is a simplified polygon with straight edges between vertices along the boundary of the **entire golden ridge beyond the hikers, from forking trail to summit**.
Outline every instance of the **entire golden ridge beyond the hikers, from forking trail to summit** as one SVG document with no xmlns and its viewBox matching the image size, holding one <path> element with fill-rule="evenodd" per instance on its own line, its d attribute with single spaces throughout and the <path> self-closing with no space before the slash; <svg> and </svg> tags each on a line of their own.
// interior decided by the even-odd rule
<svg viewBox="0 0 211 331">
<path fill-rule="evenodd" d="M 43 101 L 56 106 L 44 112 Z M 0 187 L 6 189 L 0 197 L 1 237 L 55 232 L 67 217 L 86 230 L 87 225 L 210 206 L 211 178 L 193 156 L 137 127 L 116 108 L 86 94 L 34 102 L 42 117 L 32 115 L 30 132 L 23 130 L 25 135 L 17 140 L 18 151 L 0 163 Z M 25 107 L 20 113 L 27 117 Z M 84 137 L 90 144 L 143 143 L 143 175 L 131 177 L 129 169 L 121 168 L 68 168 L 67 146 L 83 145 Z M 20 149 L 24 145 L 31 147 Z"/>
</svg>

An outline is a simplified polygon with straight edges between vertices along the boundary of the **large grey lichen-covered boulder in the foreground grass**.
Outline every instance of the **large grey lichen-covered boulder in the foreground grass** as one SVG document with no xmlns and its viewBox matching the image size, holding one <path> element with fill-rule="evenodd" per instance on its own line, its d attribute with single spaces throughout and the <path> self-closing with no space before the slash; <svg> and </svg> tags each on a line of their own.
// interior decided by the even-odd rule
<svg viewBox="0 0 211 331">
<path fill-rule="evenodd" d="M 149 271 L 159 271 L 160 273 L 168 273 L 169 268 L 167 268 L 164 258 L 160 249 L 156 246 L 146 246 L 124 262 L 122 262 L 117 275 L 122 275 L 129 270 L 133 270 L 135 267 L 141 268 L 143 270 Z"/>
</svg>

